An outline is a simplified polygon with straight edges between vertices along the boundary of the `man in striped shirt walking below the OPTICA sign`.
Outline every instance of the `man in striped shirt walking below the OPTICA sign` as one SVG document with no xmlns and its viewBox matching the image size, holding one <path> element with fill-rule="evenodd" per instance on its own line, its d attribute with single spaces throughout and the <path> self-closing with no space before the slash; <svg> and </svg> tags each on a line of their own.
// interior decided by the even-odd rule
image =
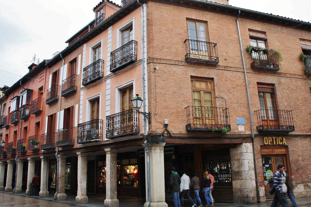
<svg viewBox="0 0 311 207">
<path fill-rule="evenodd" d="M 273 176 L 273 187 L 275 189 L 275 196 L 270 207 L 276 207 L 278 202 L 280 202 L 284 207 L 289 207 L 285 194 L 282 190 L 282 184 L 285 182 L 285 177 L 283 177 L 283 171 L 285 169 L 284 164 L 279 164 L 277 166 L 277 171 Z"/>
</svg>

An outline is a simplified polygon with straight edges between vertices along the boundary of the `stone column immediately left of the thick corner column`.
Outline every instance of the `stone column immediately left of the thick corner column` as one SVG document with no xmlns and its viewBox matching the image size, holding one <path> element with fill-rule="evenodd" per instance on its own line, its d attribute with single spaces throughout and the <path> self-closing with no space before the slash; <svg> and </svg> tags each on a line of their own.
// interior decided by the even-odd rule
<svg viewBox="0 0 311 207">
<path fill-rule="evenodd" d="M 105 207 L 118 207 L 117 199 L 117 151 L 118 149 L 105 149 L 106 151 L 106 199 Z"/>
</svg>

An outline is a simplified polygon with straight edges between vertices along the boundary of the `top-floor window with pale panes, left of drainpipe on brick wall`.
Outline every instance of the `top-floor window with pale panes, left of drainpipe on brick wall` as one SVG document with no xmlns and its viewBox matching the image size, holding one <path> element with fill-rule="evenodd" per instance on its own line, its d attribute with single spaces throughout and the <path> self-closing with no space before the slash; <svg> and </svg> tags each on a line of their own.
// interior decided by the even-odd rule
<svg viewBox="0 0 311 207">
<path fill-rule="evenodd" d="M 187 25 L 190 50 L 207 52 L 206 25 L 193 21 L 188 21 Z"/>
</svg>

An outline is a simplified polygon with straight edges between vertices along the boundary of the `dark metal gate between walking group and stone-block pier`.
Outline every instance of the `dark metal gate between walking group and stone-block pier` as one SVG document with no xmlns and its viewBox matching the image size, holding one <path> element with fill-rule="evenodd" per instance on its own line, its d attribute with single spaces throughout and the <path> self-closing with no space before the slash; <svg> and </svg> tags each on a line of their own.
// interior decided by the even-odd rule
<svg viewBox="0 0 311 207">
<path fill-rule="evenodd" d="M 215 178 L 212 196 L 217 202 L 233 203 L 230 150 L 221 149 L 203 153 L 204 170 Z"/>
</svg>

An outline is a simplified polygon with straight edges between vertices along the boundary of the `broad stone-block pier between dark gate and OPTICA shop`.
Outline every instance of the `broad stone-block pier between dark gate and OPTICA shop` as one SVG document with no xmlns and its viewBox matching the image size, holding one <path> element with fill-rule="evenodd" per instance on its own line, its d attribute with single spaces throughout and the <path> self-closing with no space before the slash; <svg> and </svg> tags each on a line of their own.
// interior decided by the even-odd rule
<svg viewBox="0 0 311 207">
<path fill-rule="evenodd" d="M 257 203 L 252 143 L 230 148 L 234 203 Z"/>
</svg>

